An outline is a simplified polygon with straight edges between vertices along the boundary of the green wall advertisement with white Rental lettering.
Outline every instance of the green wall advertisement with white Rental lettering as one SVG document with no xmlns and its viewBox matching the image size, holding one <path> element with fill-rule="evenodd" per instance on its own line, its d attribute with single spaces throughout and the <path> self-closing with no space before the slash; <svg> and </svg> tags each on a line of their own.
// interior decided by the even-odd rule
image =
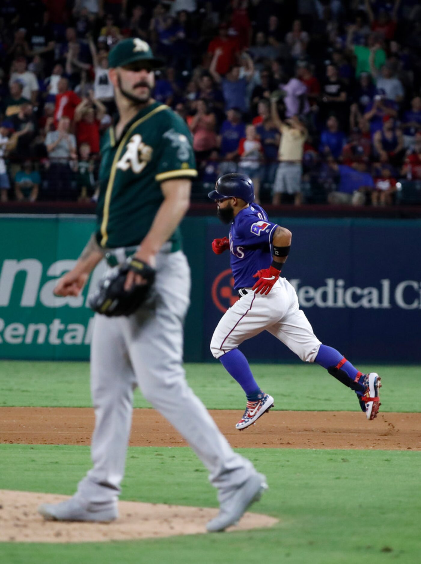
<svg viewBox="0 0 421 564">
<path fill-rule="evenodd" d="M 92 311 L 87 295 L 56 297 L 56 281 L 76 263 L 93 231 L 84 217 L 3 217 L 0 236 L 0 350 L 2 358 L 87 359 Z"/>
</svg>

